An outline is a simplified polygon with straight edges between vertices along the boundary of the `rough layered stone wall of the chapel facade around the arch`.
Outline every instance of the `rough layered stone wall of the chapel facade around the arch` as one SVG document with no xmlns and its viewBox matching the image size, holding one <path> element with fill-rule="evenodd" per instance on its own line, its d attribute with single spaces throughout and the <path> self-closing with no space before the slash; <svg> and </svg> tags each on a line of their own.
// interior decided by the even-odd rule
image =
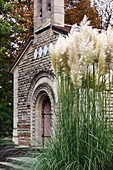
<svg viewBox="0 0 113 170">
<path fill-rule="evenodd" d="M 27 50 L 26 55 L 21 59 L 20 63 L 18 64 L 18 67 L 15 68 L 15 71 L 18 74 L 18 79 L 15 81 L 18 81 L 18 85 L 15 84 L 14 93 L 16 97 L 17 89 L 18 88 L 18 101 L 17 101 L 17 110 L 18 110 L 18 118 L 17 116 L 14 118 L 15 122 L 17 123 L 17 129 L 18 129 L 18 144 L 19 145 L 31 145 L 31 132 L 30 132 L 30 124 L 33 126 L 33 137 L 35 138 L 35 118 L 32 117 L 33 122 L 31 122 L 31 109 L 34 110 L 35 104 L 33 103 L 33 108 L 31 108 L 31 97 L 33 90 L 35 88 L 35 85 L 39 79 L 43 83 L 47 83 L 44 78 L 48 79 L 47 81 L 51 81 L 50 83 L 52 86 L 54 86 L 54 74 L 51 68 L 51 60 L 49 53 L 40 58 L 34 58 L 34 51 L 35 49 L 43 48 L 45 45 L 49 45 L 51 42 L 56 41 L 55 34 L 51 34 L 50 27 L 47 28 L 45 31 L 40 32 L 37 34 L 37 41 L 35 43 L 32 42 L 32 46 L 30 46 L 30 49 Z M 39 85 L 40 85 L 39 84 Z M 17 87 L 18 86 L 18 87 Z M 46 86 L 42 86 L 42 91 L 45 90 L 47 93 L 49 93 L 50 90 L 46 89 Z M 41 87 L 40 87 L 41 89 Z M 48 90 L 48 91 L 47 91 Z M 35 92 L 36 93 L 36 92 Z M 38 93 L 38 92 L 37 92 Z M 54 92 L 55 93 L 55 92 Z M 51 94 L 52 95 L 52 94 Z M 55 95 L 55 94 L 54 94 Z M 37 94 L 35 98 L 37 97 Z M 54 98 L 54 97 L 53 97 Z M 34 99 L 35 102 L 36 99 Z M 22 120 L 22 114 L 26 113 L 26 120 Z M 33 115 L 35 116 L 35 115 Z M 16 120 L 18 119 L 18 121 Z"/>
</svg>

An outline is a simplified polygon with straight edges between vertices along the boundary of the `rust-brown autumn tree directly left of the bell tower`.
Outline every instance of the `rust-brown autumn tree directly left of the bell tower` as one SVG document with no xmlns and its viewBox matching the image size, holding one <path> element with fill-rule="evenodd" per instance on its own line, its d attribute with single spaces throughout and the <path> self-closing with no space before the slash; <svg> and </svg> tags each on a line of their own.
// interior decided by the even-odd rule
<svg viewBox="0 0 113 170">
<path fill-rule="evenodd" d="M 11 47 L 12 56 L 16 57 L 28 38 L 33 34 L 33 0 L 16 0 L 12 5 L 11 15 L 18 22 L 16 28 L 18 31 L 11 37 L 13 42 Z"/>
</svg>

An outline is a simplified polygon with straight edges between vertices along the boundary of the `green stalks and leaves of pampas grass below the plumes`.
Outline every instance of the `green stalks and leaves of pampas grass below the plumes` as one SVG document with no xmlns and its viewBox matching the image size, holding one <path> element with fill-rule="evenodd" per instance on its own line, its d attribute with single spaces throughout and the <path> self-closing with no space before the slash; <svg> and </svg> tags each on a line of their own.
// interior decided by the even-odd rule
<svg viewBox="0 0 113 170">
<path fill-rule="evenodd" d="M 94 67 L 93 67 L 94 68 Z M 81 87 L 59 74 L 58 128 L 51 143 L 39 154 L 34 170 L 112 170 L 112 126 L 110 125 L 110 93 L 98 90 L 90 76 Z M 95 81 L 95 70 L 93 70 Z M 110 88 L 110 86 L 109 86 Z"/>
</svg>

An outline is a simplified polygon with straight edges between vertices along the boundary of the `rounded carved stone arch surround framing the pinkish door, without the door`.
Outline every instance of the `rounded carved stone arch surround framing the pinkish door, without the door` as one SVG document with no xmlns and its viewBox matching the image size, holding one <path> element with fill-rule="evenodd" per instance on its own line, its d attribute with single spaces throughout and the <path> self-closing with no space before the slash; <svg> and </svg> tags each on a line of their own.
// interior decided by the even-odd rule
<svg viewBox="0 0 113 170">
<path fill-rule="evenodd" d="M 30 127 L 31 127 L 31 146 L 42 147 L 42 105 L 44 99 L 48 97 L 51 107 L 51 128 L 56 121 L 56 85 L 55 79 L 49 74 L 44 73 L 35 77 L 31 85 L 28 104 L 30 108 Z"/>
</svg>

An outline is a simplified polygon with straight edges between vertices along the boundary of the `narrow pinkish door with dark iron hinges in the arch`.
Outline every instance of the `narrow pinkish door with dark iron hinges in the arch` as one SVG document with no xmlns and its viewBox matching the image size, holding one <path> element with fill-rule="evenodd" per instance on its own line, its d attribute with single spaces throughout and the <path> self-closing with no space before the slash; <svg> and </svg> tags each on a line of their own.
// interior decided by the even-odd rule
<svg viewBox="0 0 113 170">
<path fill-rule="evenodd" d="M 51 102 L 46 95 L 42 103 L 42 138 L 43 145 L 47 145 L 51 137 Z"/>
</svg>

